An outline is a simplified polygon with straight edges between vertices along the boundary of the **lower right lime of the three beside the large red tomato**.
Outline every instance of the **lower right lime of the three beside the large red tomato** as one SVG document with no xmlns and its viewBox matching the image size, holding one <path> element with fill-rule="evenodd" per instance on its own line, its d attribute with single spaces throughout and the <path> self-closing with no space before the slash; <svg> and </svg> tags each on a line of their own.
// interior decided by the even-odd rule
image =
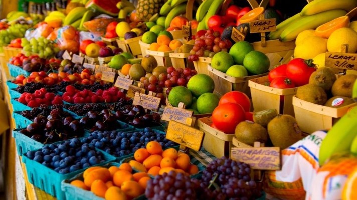
<svg viewBox="0 0 357 200">
<path fill-rule="evenodd" d="M 213 93 L 204 93 L 197 99 L 197 110 L 201 114 L 212 113 L 220 99 Z"/>
</svg>

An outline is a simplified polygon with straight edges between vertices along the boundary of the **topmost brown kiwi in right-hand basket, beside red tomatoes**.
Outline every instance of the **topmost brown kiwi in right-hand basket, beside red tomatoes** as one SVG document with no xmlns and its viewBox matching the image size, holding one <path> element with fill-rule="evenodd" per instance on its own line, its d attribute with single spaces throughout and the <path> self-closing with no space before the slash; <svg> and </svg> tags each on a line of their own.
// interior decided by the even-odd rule
<svg viewBox="0 0 357 200">
<path fill-rule="evenodd" d="M 322 87 L 325 91 L 329 91 L 336 79 L 333 70 L 328 67 L 320 67 L 311 74 L 309 84 L 317 85 Z"/>
</svg>

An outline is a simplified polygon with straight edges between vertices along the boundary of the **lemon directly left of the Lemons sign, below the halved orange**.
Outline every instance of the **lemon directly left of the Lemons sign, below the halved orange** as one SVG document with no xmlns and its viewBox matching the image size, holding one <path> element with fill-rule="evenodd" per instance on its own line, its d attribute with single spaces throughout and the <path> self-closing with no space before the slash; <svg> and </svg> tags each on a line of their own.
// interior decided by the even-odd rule
<svg viewBox="0 0 357 200">
<path fill-rule="evenodd" d="M 327 51 L 327 39 L 317 36 L 306 37 L 304 41 L 295 47 L 294 57 L 312 59 L 320 53 Z"/>
</svg>

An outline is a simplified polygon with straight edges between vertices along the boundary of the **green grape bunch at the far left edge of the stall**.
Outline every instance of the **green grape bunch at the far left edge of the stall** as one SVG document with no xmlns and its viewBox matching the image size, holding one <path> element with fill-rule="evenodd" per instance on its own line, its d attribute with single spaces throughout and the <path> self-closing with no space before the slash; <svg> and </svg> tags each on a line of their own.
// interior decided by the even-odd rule
<svg viewBox="0 0 357 200">
<path fill-rule="evenodd" d="M 11 40 L 24 37 L 29 28 L 30 26 L 27 24 L 17 23 L 9 26 L 6 30 L 0 30 L 0 46 L 6 46 L 10 44 Z"/>
</svg>

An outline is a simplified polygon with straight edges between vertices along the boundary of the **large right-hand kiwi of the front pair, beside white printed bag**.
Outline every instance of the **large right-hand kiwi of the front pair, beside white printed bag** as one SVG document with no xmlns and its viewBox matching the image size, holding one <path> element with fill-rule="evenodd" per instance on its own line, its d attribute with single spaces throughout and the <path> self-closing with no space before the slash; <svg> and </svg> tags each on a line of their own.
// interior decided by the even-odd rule
<svg viewBox="0 0 357 200">
<path fill-rule="evenodd" d="M 268 123 L 268 135 L 274 146 L 285 149 L 299 141 L 301 130 L 296 119 L 288 114 L 280 114 Z"/>
</svg>

